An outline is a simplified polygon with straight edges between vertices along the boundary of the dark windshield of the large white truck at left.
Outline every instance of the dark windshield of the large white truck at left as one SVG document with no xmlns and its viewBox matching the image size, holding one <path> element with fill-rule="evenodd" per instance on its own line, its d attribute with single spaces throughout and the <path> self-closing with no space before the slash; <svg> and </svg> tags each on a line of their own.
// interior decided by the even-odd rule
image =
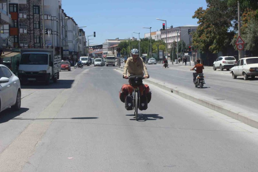
<svg viewBox="0 0 258 172">
<path fill-rule="evenodd" d="M 48 64 L 48 54 L 22 54 L 20 64 Z"/>
</svg>

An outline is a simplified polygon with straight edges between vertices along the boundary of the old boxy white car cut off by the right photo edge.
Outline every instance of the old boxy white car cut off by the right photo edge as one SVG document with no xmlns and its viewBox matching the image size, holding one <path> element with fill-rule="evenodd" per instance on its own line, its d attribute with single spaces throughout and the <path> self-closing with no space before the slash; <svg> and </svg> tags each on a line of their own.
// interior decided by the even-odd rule
<svg viewBox="0 0 258 172">
<path fill-rule="evenodd" d="M 233 79 L 236 79 L 237 76 L 243 76 L 244 80 L 247 80 L 248 77 L 254 79 L 255 76 L 258 76 L 258 57 L 241 58 L 236 66 L 230 69 L 230 73 Z"/>
</svg>

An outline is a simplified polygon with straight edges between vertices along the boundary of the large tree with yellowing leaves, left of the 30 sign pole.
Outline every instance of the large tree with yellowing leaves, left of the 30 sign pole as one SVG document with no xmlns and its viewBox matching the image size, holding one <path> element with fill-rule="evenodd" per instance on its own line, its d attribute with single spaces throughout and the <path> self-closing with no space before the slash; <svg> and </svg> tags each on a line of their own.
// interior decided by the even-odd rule
<svg viewBox="0 0 258 172">
<path fill-rule="evenodd" d="M 227 0 L 206 0 L 207 8 L 198 8 L 193 18 L 199 26 L 193 33 L 193 46 L 200 52 L 217 53 L 228 48 L 232 40 L 231 21 L 235 11 L 229 8 Z"/>
</svg>

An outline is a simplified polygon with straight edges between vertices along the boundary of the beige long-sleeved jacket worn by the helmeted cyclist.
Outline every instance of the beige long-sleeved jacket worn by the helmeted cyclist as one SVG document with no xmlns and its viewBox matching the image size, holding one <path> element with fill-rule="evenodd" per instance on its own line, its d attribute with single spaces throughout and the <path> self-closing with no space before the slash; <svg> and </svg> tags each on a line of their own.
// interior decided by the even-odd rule
<svg viewBox="0 0 258 172">
<path fill-rule="evenodd" d="M 144 71 L 144 73 L 143 73 Z M 133 61 L 132 57 L 129 57 L 124 65 L 124 76 L 128 75 L 149 75 L 147 71 L 147 67 L 144 64 L 142 58 L 138 58 L 136 62 Z"/>
</svg>

